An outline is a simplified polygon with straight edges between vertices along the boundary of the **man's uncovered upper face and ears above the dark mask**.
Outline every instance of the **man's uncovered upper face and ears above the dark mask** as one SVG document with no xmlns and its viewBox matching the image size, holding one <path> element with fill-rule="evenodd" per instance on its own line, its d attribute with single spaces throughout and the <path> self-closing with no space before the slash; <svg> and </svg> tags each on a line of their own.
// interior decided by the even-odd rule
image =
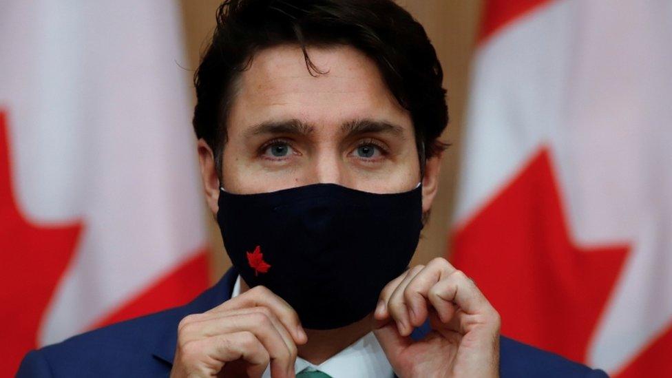
<svg viewBox="0 0 672 378">
<path fill-rule="evenodd" d="M 308 48 L 308 55 L 328 74 L 311 76 L 302 50 L 293 45 L 258 52 L 242 72 L 227 120 L 224 189 L 262 193 L 318 182 L 373 193 L 416 187 L 421 176 L 410 114 L 375 63 L 349 46 Z M 216 213 L 218 182 L 203 140 L 199 155 Z M 430 159 L 423 211 L 430 207 L 437 174 L 438 158 Z"/>
</svg>

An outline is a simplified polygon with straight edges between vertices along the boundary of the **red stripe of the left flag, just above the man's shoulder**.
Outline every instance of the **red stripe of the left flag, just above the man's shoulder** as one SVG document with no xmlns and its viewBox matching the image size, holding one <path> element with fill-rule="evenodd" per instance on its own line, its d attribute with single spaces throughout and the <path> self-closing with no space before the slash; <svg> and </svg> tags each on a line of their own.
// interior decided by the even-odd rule
<svg viewBox="0 0 672 378">
<path fill-rule="evenodd" d="M 92 328 L 185 304 L 209 286 L 208 272 L 208 249 L 203 248 Z"/>
</svg>

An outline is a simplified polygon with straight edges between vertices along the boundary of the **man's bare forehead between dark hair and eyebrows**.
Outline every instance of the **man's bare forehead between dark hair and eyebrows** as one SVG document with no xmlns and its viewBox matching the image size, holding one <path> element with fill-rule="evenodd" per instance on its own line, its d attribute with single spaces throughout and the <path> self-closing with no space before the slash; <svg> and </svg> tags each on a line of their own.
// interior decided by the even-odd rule
<svg viewBox="0 0 672 378">
<path fill-rule="evenodd" d="M 258 52 L 239 78 L 229 112 L 229 134 L 256 123 L 291 118 L 327 128 L 360 118 L 412 127 L 410 114 L 392 96 L 368 56 L 347 45 L 308 48 L 308 56 L 327 73 L 311 76 L 297 45 Z"/>
</svg>

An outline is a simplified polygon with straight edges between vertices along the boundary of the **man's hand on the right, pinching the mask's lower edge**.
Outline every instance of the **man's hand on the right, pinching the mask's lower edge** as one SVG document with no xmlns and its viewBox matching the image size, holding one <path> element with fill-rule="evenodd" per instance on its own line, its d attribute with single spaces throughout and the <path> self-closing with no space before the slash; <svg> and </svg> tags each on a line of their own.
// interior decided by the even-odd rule
<svg viewBox="0 0 672 378">
<path fill-rule="evenodd" d="M 406 377 L 498 377 L 501 319 L 464 273 L 443 258 L 415 266 L 381 292 L 374 333 Z M 410 333 L 429 318 L 432 331 Z"/>
</svg>

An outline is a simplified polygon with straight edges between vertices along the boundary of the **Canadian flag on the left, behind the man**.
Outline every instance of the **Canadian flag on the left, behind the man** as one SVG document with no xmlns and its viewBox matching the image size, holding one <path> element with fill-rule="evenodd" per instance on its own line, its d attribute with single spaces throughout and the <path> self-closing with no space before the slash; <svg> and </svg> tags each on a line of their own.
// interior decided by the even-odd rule
<svg viewBox="0 0 672 378">
<path fill-rule="evenodd" d="M 4 1 L 0 377 L 208 284 L 173 1 Z"/>
</svg>

